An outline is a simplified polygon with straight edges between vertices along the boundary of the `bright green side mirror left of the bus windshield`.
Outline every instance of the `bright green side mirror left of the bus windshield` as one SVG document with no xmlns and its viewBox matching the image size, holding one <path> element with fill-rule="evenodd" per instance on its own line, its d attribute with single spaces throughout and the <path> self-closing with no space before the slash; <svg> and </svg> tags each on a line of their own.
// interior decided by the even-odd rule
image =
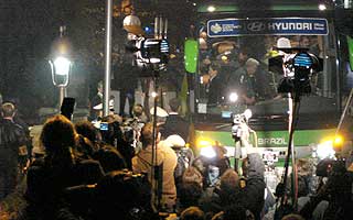
<svg viewBox="0 0 353 220">
<path fill-rule="evenodd" d="M 196 40 L 186 40 L 184 44 L 184 64 L 188 73 L 194 74 L 197 69 L 199 44 Z"/>
</svg>

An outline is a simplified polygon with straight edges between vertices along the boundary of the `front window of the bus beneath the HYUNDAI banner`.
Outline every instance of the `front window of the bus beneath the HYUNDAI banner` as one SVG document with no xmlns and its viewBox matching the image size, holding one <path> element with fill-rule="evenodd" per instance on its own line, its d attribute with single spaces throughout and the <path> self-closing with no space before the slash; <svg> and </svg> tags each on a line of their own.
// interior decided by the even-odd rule
<svg viewBox="0 0 353 220">
<path fill-rule="evenodd" d="M 290 47 L 308 48 L 308 53 L 323 58 L 324 70 L 310 79 L 311 96 L 333 98 L 335 90 L 334 58 L 327 58 L 328 36 L 321 35 L 246 35 L 228 37 L 200 36 L 196 100 L 207 105 L 207 113 L 220 113 L 215 108 L 234 106 L 229 97 L 237 95 L 237 106 L 259 106 L 284 99 L 277 92 L 282 79 L 280 73 L 269 70 L 268 61 L 280 52 L 276 48 L 279 38 L 287 38 Z M 216 74 L 211 66 L 220 66 Z M 281 72 L 281 69 L 279 69 Z M 215 86 L 217 85 L 217 86 Z M 221 85 L 221 86 L 220 86 Z M 210 89 L 211 88 L 211 89 Z M 216 88 L 217 97 L 214 99 Z M 210 92 L 211 91 L 211 92 Z M 213 98 L 211 99 L 212 96 Z M 234 96 L 233 96 L 234 98 Z"/>
</svg>

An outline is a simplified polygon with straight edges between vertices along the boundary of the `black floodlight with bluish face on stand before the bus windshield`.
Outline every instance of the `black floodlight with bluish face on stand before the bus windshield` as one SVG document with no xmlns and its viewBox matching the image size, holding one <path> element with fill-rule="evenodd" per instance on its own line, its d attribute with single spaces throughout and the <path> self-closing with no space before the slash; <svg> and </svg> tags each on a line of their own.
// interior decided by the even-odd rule
<svg viewBox="0 0 353 220">
<path fill-rule="evenodd" d="M 278 85 L 279 94 L 288 94 L 289 98 L 289 142 L 285 161 L 285 173 L 282 175 L 282 185 L 286 187 L 289 173 L 289 161 L 296 164 L 293 157 L 293 133 L 297 121 L 297 113 L 299 112 L 300 98 L 302 95 L 309 95 L 311 92 L 311 77 L 323 69 L 323 62 L 321 58 L 309 53 L 309 48 L 291 47 L 290 41 L 286 37 L 281 37 L 277 42 L 278 56 L 269 58 L 269 70 L 284 75 L 284 78 Z M 292 166 L 292 179 L 297 182 L 296 165 Z M 291 187 L 291 200 L 293 207 L 297 202 L 298 190 L 296 184 Z M 281 190 L 280 204 L 282 207 L 287 206 L 287 190 Z M 276 211 L 277 212 L 277 211 Z M 277 212 L 278 215 L 278 212 Z M 275 215 L 276 216 L 276 215 Z"/>
</svg>

